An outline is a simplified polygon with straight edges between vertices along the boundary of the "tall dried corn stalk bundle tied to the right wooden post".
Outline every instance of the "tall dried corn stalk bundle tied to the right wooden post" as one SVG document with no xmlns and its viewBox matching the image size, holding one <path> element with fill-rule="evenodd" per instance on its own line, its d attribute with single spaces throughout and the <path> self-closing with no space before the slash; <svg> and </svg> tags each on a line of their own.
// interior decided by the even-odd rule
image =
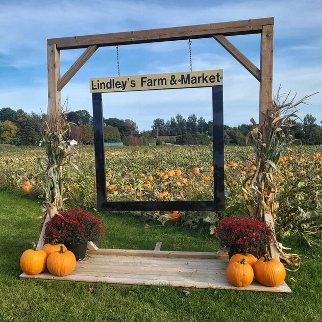
<svg viewBox="0 0 322 322">
<path fill-rule="evenodd" d="M 290 128 L 294 126 L 294 120 L 299 118 L 296 115 L 297 107 L 300 104 L 307 104 L 308 98 L 314 95 L 307 95 L 296 103 L 294 103 L 294 96 L 290 103 L 286 103 L 290 92 L 285 97 L 280 90 L 281 87 L 274 98 L 273 106 L 265 113 L 261 128 L 253 118 L 251 119 L 255 128 L 246 136 L 246 141 L 253 145 L 255 161 L 244 159 L 252 162 L 256 166 L 256 171 L 253 176 L 244 181 L 242 188 L 245 198 L 251 202 L 251 205 L 247 206 L 249 213 L 264 222 L 267 217 L 270 217 L 273 221 L 271 225 L 273 229 L 279 207 L 275 200 L 278 190 L 274 179 L 274 176 L 280 172 L 278 162 L 285 150 L 291 151 L 289 146 L 294 139 L 290 134 Z M 283 96 L 285 99 L 281 102 Z M 300 257 L 297 254 L 284 253 L 283 249 L 286 248 L 276 238 L 274 238 L 274 247 L 281 259 L 290 265 L 299 266 Z"/>
</svg>

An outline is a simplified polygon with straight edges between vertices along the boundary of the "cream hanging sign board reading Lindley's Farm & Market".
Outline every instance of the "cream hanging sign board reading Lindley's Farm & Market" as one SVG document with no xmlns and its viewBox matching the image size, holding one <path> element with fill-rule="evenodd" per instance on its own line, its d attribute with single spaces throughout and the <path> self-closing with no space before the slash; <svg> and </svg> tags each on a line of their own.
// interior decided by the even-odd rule
<svg viewBox="0 0 322 322">
<path fill-rule="evenodd" d="M 128 92 L 137 90 L 209 87 L 222 85 L 222 69 L 172 72 L 139 76 L 91 78 L 91 93 Z"/>
</svg>

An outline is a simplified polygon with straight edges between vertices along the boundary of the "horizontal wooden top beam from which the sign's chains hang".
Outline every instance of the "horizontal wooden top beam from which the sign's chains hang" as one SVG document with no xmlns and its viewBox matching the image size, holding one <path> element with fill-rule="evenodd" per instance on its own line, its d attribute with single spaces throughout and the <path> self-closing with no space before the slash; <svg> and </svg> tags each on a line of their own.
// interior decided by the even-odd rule
<svg viewBox="0 0 322 322">
<path fill-rule="evenodd" d="M 58 49 L 86 48 L 91 45 L 113 46 L 137 43 L 209 38 L 214 35 L 237 36 L 261 33 L 263 26 L 274 24 L 274 18 L 238 20 L 229 22 L 197 24 L 112 34 L 75 36 L 48 39 L 48 44 L 56 44 Z"/>
</svg>

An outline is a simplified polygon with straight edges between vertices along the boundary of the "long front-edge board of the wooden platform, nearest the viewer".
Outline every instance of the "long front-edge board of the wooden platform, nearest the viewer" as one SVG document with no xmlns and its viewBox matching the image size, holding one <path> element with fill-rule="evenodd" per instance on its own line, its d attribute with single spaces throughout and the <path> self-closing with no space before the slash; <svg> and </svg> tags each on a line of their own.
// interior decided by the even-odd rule
<svg viewBox="0 0 322 322">
<path fill-rule="evenodd" d="M 202 281 L 170 281 L 170 280 L 153 280 L 153 279 L 138 279 L 138 278 L 116 278 L 116 277 L 97 277 L 97 276 L 82 276 L 76 274 L 70 274 L 67 276 L 53 276 L 49 273 L 42 273 L 38 275 L 29 276 L 21 274 L 20 278 L 36 278 L 44 280 L 60 280 L 60 281 L 76 281 L 87 283 L 109 283 L 119 285 L 146 285 L 146 286 L 173 286 L 173 287 L 193 287 L 193 288 L 219 288 L 219 289 L 234 289 L 234 290 L 253 290 L 253 291 L 267 291 L 267 292 L 288 292 L 290 288 L 284 283 L 278 287 L 266 287 L 260 285 L 258 282 L 253 281 L 250 286 L 247 287 L 235 287 L 226 281 L 216 282 L 202 282 Z"/>
</svg>

